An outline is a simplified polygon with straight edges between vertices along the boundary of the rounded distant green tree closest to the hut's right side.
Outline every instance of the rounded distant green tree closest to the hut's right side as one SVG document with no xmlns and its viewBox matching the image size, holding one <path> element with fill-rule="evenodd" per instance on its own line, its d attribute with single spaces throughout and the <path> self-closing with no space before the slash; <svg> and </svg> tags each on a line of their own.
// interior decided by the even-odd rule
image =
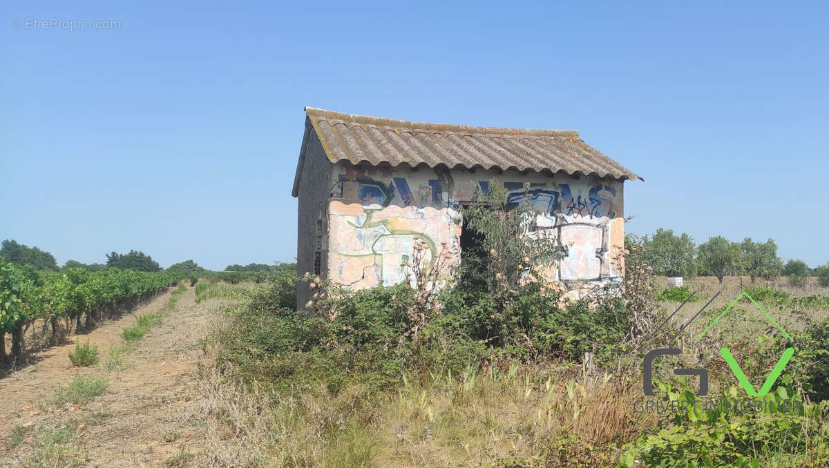
<svg viewBox="0 0 829 468">
<path fill-rule="evenodd" d="M 642 238 L 645 262 L 653 273 L 668 277 L 696 276 L 696 244 L 686 233 L 674 234 L 671 229 L 657 229 L 648 239 Z"/>
</svg>

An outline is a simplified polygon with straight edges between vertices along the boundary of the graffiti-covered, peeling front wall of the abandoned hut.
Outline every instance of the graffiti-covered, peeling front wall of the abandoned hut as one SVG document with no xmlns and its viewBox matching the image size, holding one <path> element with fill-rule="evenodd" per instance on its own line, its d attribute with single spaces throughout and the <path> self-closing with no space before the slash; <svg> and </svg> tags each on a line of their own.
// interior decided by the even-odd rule
<svg viewBox="0 0 829 468">
<path fill-rule="evenodd" d="M 585 282 L 620 277 L 623 248 L 623 185 L 594 176 L 579 178 L 519 171 L 436 170 L 353 166 L 332 167 L 328 203 L 327 276 L 350 287 L 391 285 L 405 280 L 405 263 L 417 239 L 431 254 L 461 256 L 458 208 L 489 181 L 507 188 L 511 199 L 529 197 L 539 224 L 553 229 L 567 256 L 553 277 L 570 290 Z M 531 190 L 523 189 L 529 182 Z"/>
</svg>

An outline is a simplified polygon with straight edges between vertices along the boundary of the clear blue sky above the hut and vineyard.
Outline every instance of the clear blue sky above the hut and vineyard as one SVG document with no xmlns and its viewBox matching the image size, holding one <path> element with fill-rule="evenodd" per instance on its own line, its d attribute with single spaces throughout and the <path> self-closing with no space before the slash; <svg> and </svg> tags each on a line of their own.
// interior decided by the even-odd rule
<svg viewBox="0 0 829 468">
<path fill-rule="evenodd" d="M 826 3 L 127 3 L 0 7 L 0 238 L 61 264 L 293 260 L 305 105 L 577 128 L 628 231 L 829 261 Z"/>
</svg>

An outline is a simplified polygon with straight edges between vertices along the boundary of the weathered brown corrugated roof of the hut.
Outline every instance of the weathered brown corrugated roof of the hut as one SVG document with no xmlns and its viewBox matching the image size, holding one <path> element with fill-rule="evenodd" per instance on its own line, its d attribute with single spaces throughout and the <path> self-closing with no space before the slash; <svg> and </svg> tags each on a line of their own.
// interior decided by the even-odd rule
<svg viewBox="0 0 829 468">
<path fill-rule="evenodd" d="M 312 107 L 305 108 L 305 112 L 331 162 L 430 167 L 444 164 L 449 168 L 495 167 L 503 171 L 563 171 L 618 180 L 642 179 L 589 146 L 576 130 L 418 123 Z M 296 187 L 294 184 L 294 192 Z"/>
</svg>

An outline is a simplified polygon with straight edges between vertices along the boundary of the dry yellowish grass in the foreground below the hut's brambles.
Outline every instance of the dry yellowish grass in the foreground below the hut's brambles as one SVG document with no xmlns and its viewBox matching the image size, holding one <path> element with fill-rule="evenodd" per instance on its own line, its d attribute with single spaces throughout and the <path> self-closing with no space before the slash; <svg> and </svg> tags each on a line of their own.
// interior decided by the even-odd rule
<svg viewBox="0 0 829 468">
<path fill-rule="evenodd" d="M 478 374 L 401 377 L 396 394 L 320 384 L 280 397 L 215 371 L 202 379 L 208 437 L 219 466 L 479 466 L 534 459 L 569 435 L 565 451 L 625 441 L 652 417 L 633 413 L 629 385 L 583 383 L 568 371 L 513 365 Z M 634 383 L 636 384 L 636 383 Z M 579 448 L 581 447 L 581 448 Z M 615 454 L 610 454 L 610 457 Z"/>
</svg>

